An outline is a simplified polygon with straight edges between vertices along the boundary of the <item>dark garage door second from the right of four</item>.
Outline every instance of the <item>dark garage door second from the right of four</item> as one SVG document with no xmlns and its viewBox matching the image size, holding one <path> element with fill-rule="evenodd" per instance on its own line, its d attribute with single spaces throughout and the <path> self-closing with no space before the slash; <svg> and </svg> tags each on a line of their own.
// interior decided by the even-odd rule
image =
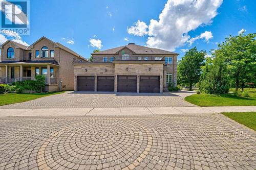
<svg viewBox="0 0 256 170">
<path fill-rule="evenodd" d="M 137 76 L 118 76 L 117 92 L 137 92 Z"/>
</svg>

